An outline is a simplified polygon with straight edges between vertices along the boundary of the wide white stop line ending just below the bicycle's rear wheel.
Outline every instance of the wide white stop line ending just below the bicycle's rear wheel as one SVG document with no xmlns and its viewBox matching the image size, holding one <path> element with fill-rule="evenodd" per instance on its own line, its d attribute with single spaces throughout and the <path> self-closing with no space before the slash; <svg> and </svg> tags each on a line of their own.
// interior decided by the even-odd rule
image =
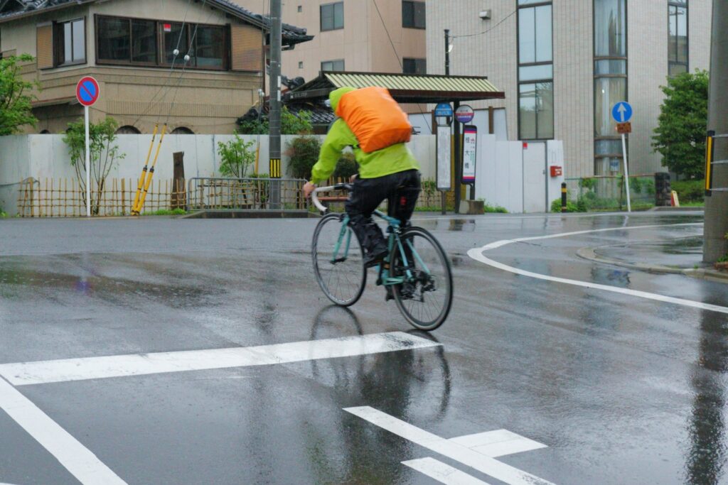
<svg viewBox="0 0 728 485">
<path fill-rule="evenodd" d="M 105 379 L 164 372 L 264 366 L 325 358 L 362 356 L 441 344 L 404 332 L 357 335 L 328 340 L 290 342 L 244 348 L 215 348 L 124 356 L 68 358 L 1 364 L 0 375 L 13 385 Z"/>
</svg>

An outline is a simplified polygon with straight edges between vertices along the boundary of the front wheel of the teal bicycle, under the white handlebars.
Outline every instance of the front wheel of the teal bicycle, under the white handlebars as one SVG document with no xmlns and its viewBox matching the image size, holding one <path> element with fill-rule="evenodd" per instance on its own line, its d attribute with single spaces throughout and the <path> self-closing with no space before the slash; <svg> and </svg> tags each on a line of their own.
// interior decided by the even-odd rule
<svg viewBox="0 0 728 485">
<path fill-rule="evenodd" d="M 316 281 L 329 300 L 341 306 L 354 305 L 366 286 L 364 252 L 352 228 L 344 226 L 344 215 L 325 215 L 316 226 L 311 245 Z"/>
</svg>

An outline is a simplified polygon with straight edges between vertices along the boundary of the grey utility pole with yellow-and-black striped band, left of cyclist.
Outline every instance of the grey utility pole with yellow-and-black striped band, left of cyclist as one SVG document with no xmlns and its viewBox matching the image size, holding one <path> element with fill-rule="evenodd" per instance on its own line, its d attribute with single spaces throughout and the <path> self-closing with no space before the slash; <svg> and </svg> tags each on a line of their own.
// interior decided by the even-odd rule
<svg viewBox="0 0 728 485">
<path fill-rule="evenodd" d="M 271 0 L 271 30 L 270 30 L 270 89 L 269 89 L 269 176 L 280 178 L 280 59 L 281 59 L 281 0 Z M 271 209 L 280 208 L 280 182 L 272 182 Z"/>
</svg>

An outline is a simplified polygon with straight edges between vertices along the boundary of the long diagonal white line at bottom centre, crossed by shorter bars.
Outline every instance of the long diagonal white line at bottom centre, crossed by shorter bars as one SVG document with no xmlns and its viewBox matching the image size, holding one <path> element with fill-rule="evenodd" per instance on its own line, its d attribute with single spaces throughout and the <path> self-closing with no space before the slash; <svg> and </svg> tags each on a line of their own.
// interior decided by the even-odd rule
<svg viewBox="0 0 728 485">
<path fill-rule="evenodd" d="M 419 446 L 423 446 L 433 452 L 442 454 L 452 460 L 457 460 L 463 465 L 467 465 L 481 473 L 492 476 L 506 484 L 553 485 L 550 481 L 531 475 L 531 473 L 527 473 L 523 470 L 518 470 L 518 468 L 506 465 L 505 463 L 499 462 L 485 454 L 475 452 L 462 444 L 457 444 L 456 442 L 446 438 L 440 438 L 440 436 L 417 428 L 408 422 L 398 420 L 396 417 L 389 416 L 389 414 L 372 407 L 349 407 L 344 408 L 344 411 L 350 412 L 363 420 L 367 420 L 368 422 L 371 422 L 390 433 L 394 433 L 395 435 L 401 436 L 415 444 L 419 444 Z"/>
</svg>

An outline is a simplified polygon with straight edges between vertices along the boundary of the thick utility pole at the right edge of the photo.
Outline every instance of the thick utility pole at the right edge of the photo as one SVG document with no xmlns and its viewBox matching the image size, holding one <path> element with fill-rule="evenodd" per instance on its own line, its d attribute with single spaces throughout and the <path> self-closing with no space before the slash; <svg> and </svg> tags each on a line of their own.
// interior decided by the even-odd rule
<svg viewBox="0 0 728 485">
<path fill-rule="evenodd" d="M 728 252 L 728 1 L 713 0 L 711 84 L 708 96 L 708 131 L 713 139 L 713 191 L 705 197 L 703 261 L 713 263 Z M 707 174 L 706 174 L 707 175 Z M 722 189 L 722 190 L 721 190 Z"/>
</svg>

